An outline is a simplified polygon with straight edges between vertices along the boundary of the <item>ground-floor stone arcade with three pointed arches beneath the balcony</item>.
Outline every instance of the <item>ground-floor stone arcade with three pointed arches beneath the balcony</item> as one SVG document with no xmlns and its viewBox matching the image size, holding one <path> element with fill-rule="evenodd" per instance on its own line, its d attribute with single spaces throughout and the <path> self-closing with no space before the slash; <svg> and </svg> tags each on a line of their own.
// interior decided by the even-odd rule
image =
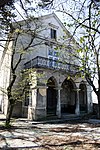
<svg viewBox="0 0 100 150">
<path fill-rule="evenodd" d="M 46 74 L 45 84 L 30 87 L 22 114 L 32 120 L 48 116 L 81 115 L 92 111 L 91 88 L 85 80 Z"/>
</svg>

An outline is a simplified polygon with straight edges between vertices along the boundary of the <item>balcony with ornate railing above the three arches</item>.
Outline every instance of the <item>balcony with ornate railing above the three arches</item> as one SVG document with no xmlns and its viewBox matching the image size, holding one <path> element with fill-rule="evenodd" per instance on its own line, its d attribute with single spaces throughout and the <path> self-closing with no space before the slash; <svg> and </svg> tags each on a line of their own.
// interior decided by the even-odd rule
<svg viewBox="0 0 100 150">
<path fill-rule="evenodd" d="M 31 61 L 28 61 L 27 63 L 24 64 L 25 69 L 29 68 L 48 68 L 48 69 L 54 69 L 54 70 L 61 70 L 64 72 L 69 72 L 72 74 L 76 73 L 76 68 L 78 66 L 69 64 L 69 63 L 63 63 L 59 60 L 53 60 L 53 59 L 48 59 L 45 57 L 37 56 Z"/>
</svg>

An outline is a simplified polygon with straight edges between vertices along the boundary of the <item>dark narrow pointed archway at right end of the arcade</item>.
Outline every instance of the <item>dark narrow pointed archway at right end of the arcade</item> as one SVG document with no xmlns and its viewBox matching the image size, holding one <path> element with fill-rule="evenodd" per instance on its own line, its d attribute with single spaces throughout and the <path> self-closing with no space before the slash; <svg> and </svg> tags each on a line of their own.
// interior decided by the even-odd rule
<svg viewBox="0 0 100 150">
<path fill-rule="evenodd" d="M 87 112 L 87 87 L 84 81 L 79 85 L 80 113 Z"/>
</svg>

